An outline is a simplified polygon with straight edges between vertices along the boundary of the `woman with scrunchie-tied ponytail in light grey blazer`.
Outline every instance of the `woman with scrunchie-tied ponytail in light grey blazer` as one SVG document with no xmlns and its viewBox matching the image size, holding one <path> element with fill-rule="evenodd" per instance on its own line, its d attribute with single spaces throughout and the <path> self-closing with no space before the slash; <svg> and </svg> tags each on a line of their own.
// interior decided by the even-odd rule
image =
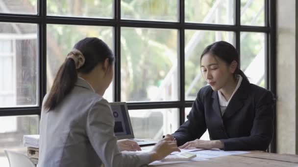
<svg viewBox="0 0 298 167">
<path fill-rule="evenodd" d="M 45 96 L 38 167 L 140 167 L 179 151 L 159 142 L 149 153 L 130 140 L 117 141 L 114 117 L 102 97 L 113 78 L 114 55 L 98 38 L 77 42 Z"/>
</svg>

